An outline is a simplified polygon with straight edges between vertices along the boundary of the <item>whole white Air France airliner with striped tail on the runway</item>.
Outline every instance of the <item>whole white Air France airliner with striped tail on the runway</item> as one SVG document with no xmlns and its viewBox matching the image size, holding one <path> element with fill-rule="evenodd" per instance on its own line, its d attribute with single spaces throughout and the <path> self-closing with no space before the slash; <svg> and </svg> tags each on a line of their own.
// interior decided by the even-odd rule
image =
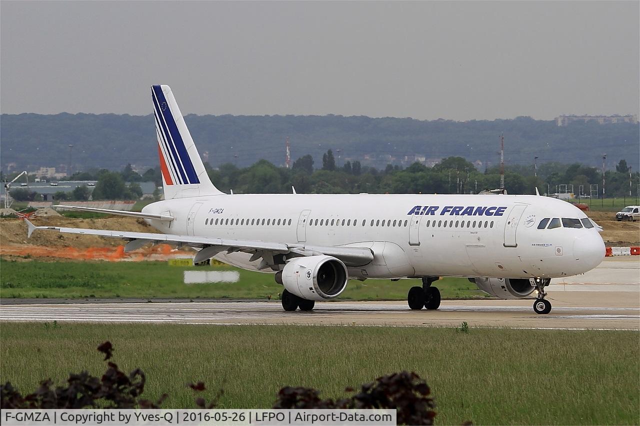
<svg viewBox="0 0 640 426">
<path fill-rule="evenodd" d="M 500 299 L 535 292 L 534 312 L 551 303 L 551 278 L 602 262 L 599 228 L 566 201 L 539 195 L 225 194 L 211 182 L 172 90 L 151 88 L 164 200 L 141 212 L 58 206 L 140 217 L 159 233 L 35 226 L 35 230 L 190 246 L 211 258 L 275 274 L 285 311 L 313 310 L 340 296 L 350 278 L 419 278 L 407 302 L 436 310 L 440 277 L 465 277 Z M 537 192 L 537 191 L 536 191 Z"/>
</svg>

